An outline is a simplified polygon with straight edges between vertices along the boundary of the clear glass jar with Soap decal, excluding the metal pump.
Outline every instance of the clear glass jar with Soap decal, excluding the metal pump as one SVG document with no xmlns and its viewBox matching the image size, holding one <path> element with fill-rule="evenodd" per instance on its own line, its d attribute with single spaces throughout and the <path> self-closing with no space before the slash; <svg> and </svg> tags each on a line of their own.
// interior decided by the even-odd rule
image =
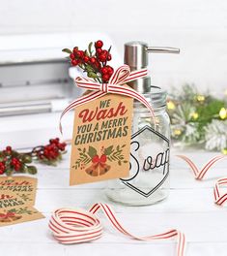
<svg viewBox="0 0 227 256">
<path fill-rule="evenodd" d="M 169 194 L 170 120 L 166 112 L 166 92 L 152 87 L 143 94 L 156 115 L 156 130 L 151 113 L 134 102 L 130 142 L 129 176 L 108 181 L 106 196 L 128 206 L 145 206 Z"/>
</svg>

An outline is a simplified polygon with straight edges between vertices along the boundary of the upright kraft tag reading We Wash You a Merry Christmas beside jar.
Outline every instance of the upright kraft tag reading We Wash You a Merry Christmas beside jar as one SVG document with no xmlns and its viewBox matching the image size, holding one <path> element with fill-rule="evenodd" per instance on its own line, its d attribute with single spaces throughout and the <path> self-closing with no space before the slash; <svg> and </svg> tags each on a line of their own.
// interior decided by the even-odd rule
<svg viewBox="0 0 227 256">
<path fill-rule="evenodd" d="M 128 176 L 132 108 L 119 94 L 75 108 L 71 185 Z"/>
</svg>

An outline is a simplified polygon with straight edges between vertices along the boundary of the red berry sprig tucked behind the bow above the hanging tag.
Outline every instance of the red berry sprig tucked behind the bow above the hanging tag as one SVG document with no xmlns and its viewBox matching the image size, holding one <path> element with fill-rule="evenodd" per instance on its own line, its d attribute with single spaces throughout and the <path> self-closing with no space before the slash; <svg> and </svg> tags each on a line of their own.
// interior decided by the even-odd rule
<svg viewBox="0 0 227 256">
<path fill-rule="evenodd" d="M 95 52 L 92 50 L 93 45 L 95 45 Z M 70 54 L 72 66 L 79 66 L 89 78 L 103 83 L 109 81 L 114 69 L 107 65 L 107 62 L 112 59 L 111 47 L 108 50 L 102 47 L 103 42 L 98 40 L 95 44 L 90 43 L 88 49 L 85 50 L 75 47 L 72 50 L 64 48 L 63 51 Z"/>
</svg>

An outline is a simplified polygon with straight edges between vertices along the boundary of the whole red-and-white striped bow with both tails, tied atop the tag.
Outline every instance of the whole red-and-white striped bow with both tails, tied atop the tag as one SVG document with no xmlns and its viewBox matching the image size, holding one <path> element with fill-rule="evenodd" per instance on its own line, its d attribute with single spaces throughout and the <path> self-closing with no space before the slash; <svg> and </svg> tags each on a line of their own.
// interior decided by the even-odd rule
<svg viewBox="0 0 227 256">
<path fill-rule="evenodd" d="M 98 99 L 99 97 L 105 95 L 106 93 L 121 94 L 121 95 L 128 96 L 140 101 L 151 112 L 155 122 L 155 127 L 156 127 L 154 110 L 152 106 L 149 104 L 149 102 L 146 100 L 146 98 L 143 95 L 136 92 L 134 89 L 128 86 L 123 86 L 123 84 L 127 83 L 128 81 L 141 79 L 146 77 L 147 75 L 148 75 L 147 69 L 130 72 L 130 68 L 128 67 L 128 65 L 123 65 L 114 72 L 114 74 L 111 76 L 108 83 L 99 83 L 87 78 L 77 77 L 75 79 L 75 82 L 78 87 L 94 90 L 94 91 L 89 93 L 88 95 L 84 95 L 72 101 L 71 104 L 62 112 L 60 117 L 61 133 L 62 133 L 61 119 L 66 112 L 69 112 L 71 111 L 71 109 L 74 109 L 75 107 L 80 106 L 84 103 L 88 103 L 90 101 Z"/>
</svg>

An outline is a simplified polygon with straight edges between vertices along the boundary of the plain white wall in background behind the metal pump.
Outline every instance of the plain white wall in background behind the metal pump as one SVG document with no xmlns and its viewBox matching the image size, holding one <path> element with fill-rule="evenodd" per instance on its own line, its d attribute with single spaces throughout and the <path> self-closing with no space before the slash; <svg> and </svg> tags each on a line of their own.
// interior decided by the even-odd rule
<svg viewBox="0 0 227 256">
<path fill-rule="evenodd" d="M 121 53 L 130 40 L 179 47 L 151 56 L 154 84 L 227 88 L 227 1 L 0 0 L 0 35 L 62 31 L 107 33 Z"/>
</svg>

